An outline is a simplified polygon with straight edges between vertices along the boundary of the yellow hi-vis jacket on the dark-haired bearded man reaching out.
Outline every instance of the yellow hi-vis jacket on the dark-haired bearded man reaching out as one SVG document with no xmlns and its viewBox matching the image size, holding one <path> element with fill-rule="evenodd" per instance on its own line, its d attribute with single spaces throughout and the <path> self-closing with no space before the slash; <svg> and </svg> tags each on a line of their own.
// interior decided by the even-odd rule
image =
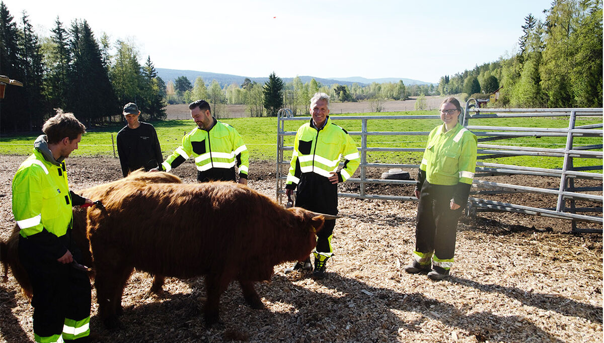
<svg viewBox="0 0 604 343">
<path fill-rule="evenodd" d="M 214 119 L 210 130 L 196 127 L 182 138 L 182 144 L 161 164 L 162 170 L 170 171 L 186 161 L 195 159 L 199 172 L 212 168 L 230 169 L 237 165 L 240 178 L 248 178 L 249 152 L 243 139 L 229 124 Z"/>
</svg>

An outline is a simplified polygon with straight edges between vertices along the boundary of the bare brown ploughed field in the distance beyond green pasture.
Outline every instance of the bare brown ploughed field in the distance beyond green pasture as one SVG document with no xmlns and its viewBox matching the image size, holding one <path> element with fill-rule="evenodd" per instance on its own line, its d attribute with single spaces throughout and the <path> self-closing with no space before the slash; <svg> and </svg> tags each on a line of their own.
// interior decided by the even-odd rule
<svg viewBox="0 0 604 343">
<path fill-rule="evenodd" d="M 426 97 L 426 109 L 438 109 L 440 103 L 443 101 L 443 98 L 445 97 Z M 382 112 L 414 111 L 415 101 L 415 98 L 410 98 L 404 101 L 383 101 L 381 104 L 382 107 L 384 107 Z M 329 111 L 332 114 L 365 113 L 371 112 L 371 108 L 371 103 L 369 101 L 359 101 L 358 103 L 332 102 L 329 104 Z M 249 117 L 249 114 L 246 111 L 246 105 L 222 105 L 222 109 L 220 109 L 220 117 Z M 168 120 L 186 120 L 191 118 L 191 112 L 189 111 L 187 104 L 168 105 L 165 107 L 165 114 Z"/>
</svg>

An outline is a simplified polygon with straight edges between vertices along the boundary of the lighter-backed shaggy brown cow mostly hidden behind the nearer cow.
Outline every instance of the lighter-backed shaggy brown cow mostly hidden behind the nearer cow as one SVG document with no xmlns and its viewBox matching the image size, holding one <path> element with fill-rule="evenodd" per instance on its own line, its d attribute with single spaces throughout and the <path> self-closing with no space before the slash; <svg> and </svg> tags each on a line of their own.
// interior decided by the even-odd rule
<svg viewBox="0 0 604 343">
<path fill-rule="evenodd" d="M 120 188 L 124 182 L 131 181 L 142 181 L 149 183 L 182 183 L 182 180 L 178 176 L 170 173 L 158 172 L 158 173 L 147 173 L 144 170 L 137 170 L 130 173 L 126 178 L 119 179 L 117 181 L 109 182 L 108 184 L 97 185 L 95 187 L 88 188 L 86 190 L 77 192 L 82 196 L 88 197 L 89 199 L 97 199 L 100 194 L 105 194 L 114 189 Z M 79 263 L 85 264 L 86 266 L 92 266 L 92 257 L 90 254 L 90 248 L 88 238 L 86 237 L 86 212 L 88 208 L 74 207 L 73 209 L 73 225 L 72 239 L 82 251 L 82 261 Z M 13 227 L 10 238 L 7 242 L 0 242 L 0 261 L 4 266 L 4 277 L 8 277 L 8 267 L 10 266 L 11 272 L 14 278 L 21 286 L 21 290 L 25 297 L 31 298 L 31 284 L 30 278 L 27 276 L 27 272 L 19 261 L 19 226 Z M 155 275 L 153 278 L 153 286 L 150 292 L 160 293 L 161 286 L 164 283 L 164 278 Z"/>
</svg>

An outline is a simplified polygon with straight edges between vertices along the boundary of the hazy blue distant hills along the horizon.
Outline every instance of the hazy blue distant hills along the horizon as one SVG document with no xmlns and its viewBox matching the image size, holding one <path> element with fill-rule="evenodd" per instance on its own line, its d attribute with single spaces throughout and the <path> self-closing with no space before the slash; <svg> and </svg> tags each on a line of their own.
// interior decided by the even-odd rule
<svg viewBox="0 0 604 343">
<path fill-rule="evenodd" d="M 159 77 L 164 80 L 165 83 L 169 81 L 176 80 L 177 77 L 185 76 L 191 82 L 191 85 L 194 85 L 195 79 L 199 76 L 204 79 L 206 85 L 209 85 L 212 80 L 216 80 L 220 83 L 220 86 L 231 85 L 231 83 L 237 83 L 237 85 L 241 85 L 243 80 L 245 80 L 245 76 L 239 75 L 231 75 L 231 74 L 218 74 L 216 72 L 205 72 L 205 71 L 194 71 L 194 70 L 178 70 L 178 69 L 164 69 L 164 68 L 155 68 Z M 347 77 L 347 78 L 339 78 L 339 79 L 321 79 L 320 77 L 312 77 L 312 76 L 299 76 L 300 81 L 303 83 L 310 82 L 310 80 L 315 79 L 316 82 L 321 83 L 324 86 L 331 86 L 334 83 L 338 83 L 338 85 L 352 85 L 353 83 L 358 83 L 359 85 L 368 85 L 371 82 L 383 83 L 383 82 L 399 82 L 399 80 L 403 80 L 405 85 L 429 85 L 429 82 L 422 82 L 411 79 L 365 79 L 363 77 Z M 268 81 L 267 77 L 248 77 L 248 79 L 257 83 L 265 83 Z M 294 80 L 293 77 L 281 77 L 283 82 L 288 83 Z"/>
</svg>

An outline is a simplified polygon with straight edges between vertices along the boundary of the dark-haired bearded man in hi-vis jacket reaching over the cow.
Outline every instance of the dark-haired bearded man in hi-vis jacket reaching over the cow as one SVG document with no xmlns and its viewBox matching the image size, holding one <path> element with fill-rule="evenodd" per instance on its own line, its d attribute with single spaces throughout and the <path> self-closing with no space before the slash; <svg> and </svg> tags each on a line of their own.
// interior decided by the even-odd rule
<svg viewBox="0 0 604 343">
<path fill-rule="evenodd" d="M 235 165 L 239 170 L 239 183 L 248 184 L 249 153 L 243 139 L 229 124 L 212 117 L 210 104 L 197 100 L 189 104 L 191 117 L 198 125 L 182 138 L 182 144 L 172 155 L 151 171 L 170 171 L 186 161 L 195 159 L 197 180 L 235 181 Z"/>
</svg>

